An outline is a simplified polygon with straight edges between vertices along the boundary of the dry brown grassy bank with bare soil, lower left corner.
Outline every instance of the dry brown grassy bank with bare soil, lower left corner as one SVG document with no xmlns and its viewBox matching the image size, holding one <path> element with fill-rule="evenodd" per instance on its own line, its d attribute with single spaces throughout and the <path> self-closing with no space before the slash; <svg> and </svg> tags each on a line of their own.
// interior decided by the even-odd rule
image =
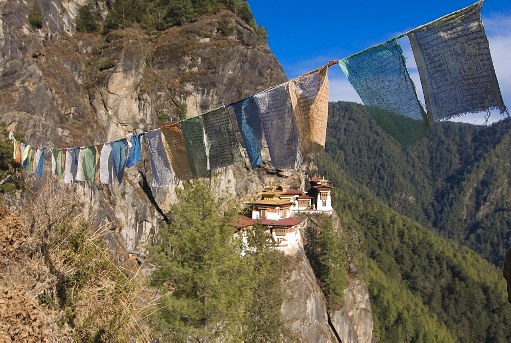
<svg viewBox="0 0 511 343">
<path fill-rule="evenodd" d="M 25 217 L 0 209 L 0 341 L 147 338 L 140 267 L 120 267 L 77 209 L 50 187 Z"/>
</svg>

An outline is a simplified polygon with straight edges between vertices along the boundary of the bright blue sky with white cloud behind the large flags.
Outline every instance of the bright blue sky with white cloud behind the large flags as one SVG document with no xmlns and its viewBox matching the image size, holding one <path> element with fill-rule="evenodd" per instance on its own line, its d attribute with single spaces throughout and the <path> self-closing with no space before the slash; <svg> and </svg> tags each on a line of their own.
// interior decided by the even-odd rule
<svg viewBox="0 0 511 343">
<path fill-rule="evenodd" d="M 439 17 L 470 6 L 475 0 L 249 0 L 268 44 L 288 78 L 306 74 Z M 481 11 L 504 104 L 511 108 L 511 0 L 487 0 Z M 419 72 L 408 38 L 399 39 L 407 68 L 424 104 Z M 330 100 L 362 103 L 339 65 L 329 69 Z M 489 123 L 503 119 L 492 111 Z M 484 113 L 453 121 L 484 123 Z"/>
</svg>

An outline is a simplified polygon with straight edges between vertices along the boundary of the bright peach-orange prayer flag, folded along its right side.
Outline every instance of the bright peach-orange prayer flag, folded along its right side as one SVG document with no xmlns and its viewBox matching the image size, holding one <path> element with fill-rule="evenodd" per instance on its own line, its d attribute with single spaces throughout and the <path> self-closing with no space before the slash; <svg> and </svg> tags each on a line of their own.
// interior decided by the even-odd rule
<svg viewBox="0 0 511 343">
<path fill-rule="evenodd" d="M 296 125 L 300 133 L 300 149 L 311 153 L 324 149 L 328 120 L 328 68 L 327 65 L 289 82 Z"/>
</svg>

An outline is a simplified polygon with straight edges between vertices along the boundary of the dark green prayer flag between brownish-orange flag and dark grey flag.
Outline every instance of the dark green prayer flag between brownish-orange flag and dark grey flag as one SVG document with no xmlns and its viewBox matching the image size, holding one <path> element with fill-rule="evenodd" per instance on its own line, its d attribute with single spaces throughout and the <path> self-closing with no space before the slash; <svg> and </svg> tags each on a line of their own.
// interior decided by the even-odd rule
<svg viewBox="0 0 511 343">
<path fill-rule="evenodd" d="M 183 143 L 190 167 L 196 177 L 211 177 L 208 168 L 206 147 L 204 144 L 204 127 L 199 117 L 190 118 L 179 123 L 183 133 Z"/>
</svg>

